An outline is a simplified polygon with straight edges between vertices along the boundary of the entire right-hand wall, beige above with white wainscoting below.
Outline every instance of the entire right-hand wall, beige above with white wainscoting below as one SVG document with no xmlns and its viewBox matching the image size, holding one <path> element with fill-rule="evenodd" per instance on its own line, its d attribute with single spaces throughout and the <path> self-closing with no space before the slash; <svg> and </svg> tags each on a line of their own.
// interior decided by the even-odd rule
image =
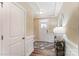
<svg viewBox="0 0 79 59">
<path fill-rule="evenodd" d="M 64 3 L 61 14 L 64 15 L 62 25 L 66 28 L 66 55 L 78 55 L 79 39 L 79 3 Z"/>
</svg>

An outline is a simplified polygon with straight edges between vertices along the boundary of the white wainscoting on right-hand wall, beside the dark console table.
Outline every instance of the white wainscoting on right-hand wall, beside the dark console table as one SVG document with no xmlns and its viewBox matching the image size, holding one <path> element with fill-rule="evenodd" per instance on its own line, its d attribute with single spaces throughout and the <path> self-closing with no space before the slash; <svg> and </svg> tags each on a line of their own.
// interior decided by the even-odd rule
<svg viewBox="0 0 79 59">
<path fill-rule="evenodd" d="M 66 35 L 64 35 L 66 43 L 66 56 L 78 56 L 78 45 L 70 41 Z"/>
</svg>

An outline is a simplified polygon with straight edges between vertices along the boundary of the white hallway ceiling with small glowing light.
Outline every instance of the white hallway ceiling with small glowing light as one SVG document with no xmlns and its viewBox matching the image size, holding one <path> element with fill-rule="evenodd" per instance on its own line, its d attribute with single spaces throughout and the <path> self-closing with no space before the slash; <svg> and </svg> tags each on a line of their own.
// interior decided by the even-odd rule
<svg viewBox="0 0 79 59">
<path fill-rule="evenodd" d="M 40 17 L 57 16 L 63 2 L 28 2 L 33 13 Z"/>
</svg>

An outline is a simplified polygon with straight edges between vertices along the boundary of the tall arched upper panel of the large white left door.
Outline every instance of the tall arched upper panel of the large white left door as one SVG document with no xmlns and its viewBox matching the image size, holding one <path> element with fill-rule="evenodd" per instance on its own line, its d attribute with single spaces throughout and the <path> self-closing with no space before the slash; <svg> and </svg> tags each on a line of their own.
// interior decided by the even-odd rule
<svg viewBox="0 0 79 59">
<path fill-rule="evenodd" d="M 10 36 L 24 34 L 24 12 L 16 6 L 11 6 Z"/>
</svg>

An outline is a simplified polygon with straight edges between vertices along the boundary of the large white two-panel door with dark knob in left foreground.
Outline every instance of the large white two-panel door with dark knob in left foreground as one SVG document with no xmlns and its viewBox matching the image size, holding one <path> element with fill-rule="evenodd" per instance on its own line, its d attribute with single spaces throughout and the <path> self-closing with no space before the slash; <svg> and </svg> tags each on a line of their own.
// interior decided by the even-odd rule
<svg viewBox="0 0 79 59">
<path fill-rule="evenodd" d="M 12 3 L 3 4 L 2 55 L 24 55 L 24 11 Z"/>
</svg>

